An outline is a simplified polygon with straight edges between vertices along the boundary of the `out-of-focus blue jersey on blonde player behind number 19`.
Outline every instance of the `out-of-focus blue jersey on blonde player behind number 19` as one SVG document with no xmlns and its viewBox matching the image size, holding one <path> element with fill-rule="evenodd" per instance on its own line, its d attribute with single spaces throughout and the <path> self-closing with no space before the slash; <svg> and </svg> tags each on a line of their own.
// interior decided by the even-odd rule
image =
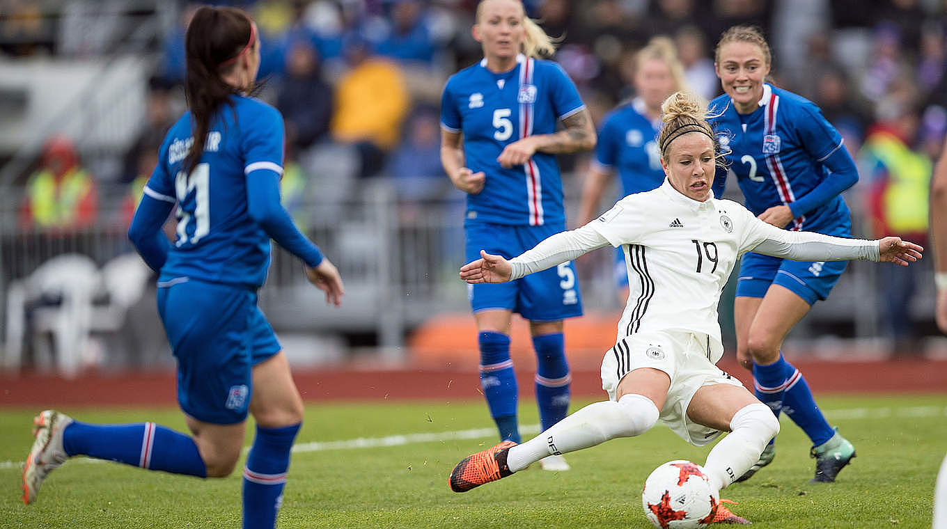
<svg viewBox="0 0 947 529">
<path fill-rule="evenodd" d="M 605 116 L 596 144 L 595 164 L 617 170 L 621 197 L 651 191 L 664 183 L 661 151 L 657 147 L 660 119 L 645 115 L 644 101 L 635 98 Z"/>
</svg>

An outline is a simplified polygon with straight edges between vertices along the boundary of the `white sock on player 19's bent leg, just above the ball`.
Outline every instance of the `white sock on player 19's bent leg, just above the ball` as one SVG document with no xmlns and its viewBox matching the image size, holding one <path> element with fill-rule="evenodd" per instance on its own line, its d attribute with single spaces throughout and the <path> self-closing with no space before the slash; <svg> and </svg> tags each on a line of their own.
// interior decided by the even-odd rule
<svg viewBox="0 0 947 529">
<path fill-rule="evenodd" d="M 769 406 L 744 406 L 730 420 L 730 433 L 707 454 L 704 469 L 718 489 L 737 481 L 759 461 L 759 454 L 779 432 L 779 420 Z"/>
</svg>

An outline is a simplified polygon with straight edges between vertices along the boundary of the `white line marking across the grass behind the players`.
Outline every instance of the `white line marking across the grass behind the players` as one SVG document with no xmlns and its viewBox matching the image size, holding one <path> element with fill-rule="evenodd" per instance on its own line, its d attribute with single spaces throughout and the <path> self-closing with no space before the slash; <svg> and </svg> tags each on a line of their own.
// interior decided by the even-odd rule
<svg viewBox="0 0 947 529">
<path fill-rule="evenodd" d="M 843 410 L 823 410 L 831 419 L 877 419 L 887 417 L 900 418 L 918 418 L 933 417 L 938 415 L 947 416 L 947 407 L 942 406 L 912 406 L 903 408 L 849 408 Z M 529 424 L 520 427 L 523 433 L 539 433 L 538 424 Z M 481 437 L 491 437 L 496 433 L 494 428 L 476 428 L 472 430 L 457 430 L 454 432 L 431 432 L 431 433 L 403 433 L 401 435 L 386 435 L 384 437 L 358 437 L 342 441 L 310 441 L 308 443 L 296 443 L 293 447 L 295 453 L 323 451 L 323 450 L 355 450 L 355 449 L 374 449 L 380 447 L 402 447 L 405 445 L 417 445 L 420 443 L 435 443 L 443 441 L 454 441 L 460 439 L 479 439 Z M 246 452 L 249 447 L 244 448 Z M 88 457 L 77 458 L 73 463 L 103 463 L 102 460 Z M 0 470 L 8 468 L 23 468 L 22 461 L 0 461 Z"/>
</svg>

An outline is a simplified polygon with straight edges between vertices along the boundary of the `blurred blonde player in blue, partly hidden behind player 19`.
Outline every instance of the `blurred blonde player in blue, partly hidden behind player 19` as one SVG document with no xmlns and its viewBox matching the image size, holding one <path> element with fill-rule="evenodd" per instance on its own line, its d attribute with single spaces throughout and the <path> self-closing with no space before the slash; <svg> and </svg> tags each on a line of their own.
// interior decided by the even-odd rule
<svg viewBox="0 0 947 529">
<path fill-rule="evenodd" d="M 664 182 L 657 134 L 661 128 L 661 104 L 674 92 L 684 90 L 684 66 L 677 60 L 674 44 L 655 37 L 634 54 L 634 93 L 605 116 L 592 167 L 582 185 L 580 225 L 598 216 L 605 186 L 615 175 L 621 179 L 618 199 L 651 191 Z M 615 252 L 615 278 L 621 299 L 628 298 L 625 254 Z"/>
</svg>

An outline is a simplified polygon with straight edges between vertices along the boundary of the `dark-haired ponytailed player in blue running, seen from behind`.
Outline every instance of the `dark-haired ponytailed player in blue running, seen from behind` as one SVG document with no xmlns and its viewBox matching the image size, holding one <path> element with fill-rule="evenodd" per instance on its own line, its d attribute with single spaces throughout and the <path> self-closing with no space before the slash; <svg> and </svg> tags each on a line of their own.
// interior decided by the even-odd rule
<svg viewBox="0 0 947 529">
<path fill-rule="evenodd" d="M 189 111 L 171 127 L 129 237 L 160 273 L 158 310 L 178 365 L 191 435 L 152 422 L 36 417 L 24 501 L 74 455 L 199 477 L 224 477 L 241 455 L 248 413 L 257 435 L 243 469 L 243 527 L 272 528 L 302 421 L 302 399 L 273 328 L 257 306 L 270 238 L 305 263 L 338 305 L 342 280 L 279 203 L 283 121 L 253 91 L 256 25 L 239 9 L 198 9 L 186 36 Z M 177 240 L 161 232 L 177 203 Z"/>
</svg>

